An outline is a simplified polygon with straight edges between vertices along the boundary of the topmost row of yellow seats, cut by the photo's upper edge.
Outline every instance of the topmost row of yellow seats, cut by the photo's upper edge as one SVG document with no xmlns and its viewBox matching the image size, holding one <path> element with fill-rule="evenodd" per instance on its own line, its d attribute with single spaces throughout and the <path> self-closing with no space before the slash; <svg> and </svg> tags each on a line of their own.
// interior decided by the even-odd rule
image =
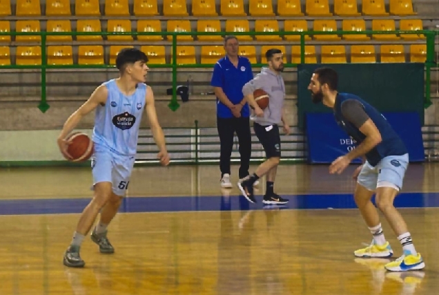
<svg viewBox="0 0 439 295">
<path fill-rule="evenodd" d="M 273 6 L 273 2 L 277 6 Z M 358 4 L 362 5 L 361 13 Z M 45 16 L 72 16 L 70 0 L 46 0 Z M 218 15 L 215 0 L 191 0 L 194 17 L 215 17 Z M 275 10 L 277 7 L 277 10 Z M 12 8 L 15 8 L 14 14 Z M 133 0 L 130 11 L 128 0 L 105 0 L 104 13 L 101 12 L 99 0 L 75 0 L 75 16 L 130 16 L 150 17 L 159 15 L 157 0 Z M 219 13 L 224 17 L 300 17 L 304 13 L 310 17 L 357 17 L 360 15 L 416 15 L 413 12 L 411 0 L 390 0 L 389 11 L 386 11 L 384 0 L 334 0 L 334 10 L 331 12 L 329 0 L 306 0 L 304 12 L 301 0 L 248 0 L 248 13 L 244 0 L 221 0 Z M 164 0 L 162 9 L 164 17 L 187 17 L 188 5 L 186 0 Z M 17 17 L 41 16 L 40 0 L 17 0 L 12 6 L 10 0 L 0 1 L 0 16 L 14 15 Z"/>
</svg>

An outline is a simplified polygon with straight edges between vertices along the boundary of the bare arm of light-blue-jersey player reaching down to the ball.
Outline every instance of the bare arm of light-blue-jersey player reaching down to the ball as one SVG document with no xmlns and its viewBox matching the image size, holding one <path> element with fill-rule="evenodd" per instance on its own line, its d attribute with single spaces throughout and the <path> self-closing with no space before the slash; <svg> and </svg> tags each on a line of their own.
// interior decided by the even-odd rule
<svg viewBox="0 0 439 295">
<path fill-rule="evenodd" d="M 73 129 L 79 124 L 81 119 L 90 113 L 91 111 L 95 110 L 99 104 L 105 104 L 108 96 L 108 90 L 106 86 L 101 85 L 93 91 L 93 93 L 90 95 L 88 100 L 80 106 L 75 113 L 72 113 L 70 117 L 66 120 L 64 123 L 63 130 L 59 134 L 58 139 L 64 140 L 67 135 L 72 132 Z"/>
</svg>

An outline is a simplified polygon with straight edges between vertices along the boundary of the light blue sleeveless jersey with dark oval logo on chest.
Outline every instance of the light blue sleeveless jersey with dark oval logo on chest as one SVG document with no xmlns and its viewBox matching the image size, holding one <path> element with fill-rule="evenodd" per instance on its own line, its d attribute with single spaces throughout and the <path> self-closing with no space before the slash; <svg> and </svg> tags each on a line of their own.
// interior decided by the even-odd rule
<svg viewBox="0 0 439 295">
<path fill-rule="evenodd" d="M 103 85 L 108 89 L 104 106 L 97 106 L 93 142 L 95 150 L 109 149 L 117 155 L 136 155 L 142 113 L 146 104 L 146 84 L 137 84 L 133 95 L 126 96 L 111 79 Z"/>
</svg>

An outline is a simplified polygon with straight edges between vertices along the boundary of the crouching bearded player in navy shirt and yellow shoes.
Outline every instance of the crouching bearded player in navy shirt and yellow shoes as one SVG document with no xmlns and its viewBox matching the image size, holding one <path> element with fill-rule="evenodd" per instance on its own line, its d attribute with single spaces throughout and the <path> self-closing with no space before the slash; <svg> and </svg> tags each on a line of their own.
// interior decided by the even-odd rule
<svg viewBox="0 0 439 295">
<path fill-rule="evenodd" d="M 364 164 L 353 175 L 357 180 L 354 198 L 373 240 L 368 247 L 354 251 L 354 255 L 368 258 L 393 255 L 389 242 L 384 238 L 378 211 L 371 202 L 373 193 L 376 193 L 376 205 L 398 236 L 403 250 L 400 258 L 384 267 L 393 272 L 423 269 L 425 263 L 413 245 L 407 225 L 393 206 L 393 200 L 402 189 L 409 164 L 407 149 L 380 112 L 356 95 L 338 93 L 337 84 L 338 74 L 335 70 L 318 68 L 311 77 L 308 89 L 315 104 L 322 102 L 333 109 L 338 125 L 357 145 L 332 162 L 329 172 L 340 174 L 355 158 L 365 158 Z"/>
</svg>

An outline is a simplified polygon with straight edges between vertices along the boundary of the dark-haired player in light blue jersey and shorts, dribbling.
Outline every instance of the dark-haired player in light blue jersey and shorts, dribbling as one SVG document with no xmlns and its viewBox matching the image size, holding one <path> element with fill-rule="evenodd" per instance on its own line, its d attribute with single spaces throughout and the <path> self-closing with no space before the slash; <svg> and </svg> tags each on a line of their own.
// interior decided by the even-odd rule
<svg viewBox="0 0 439 295">
<path fill-rule="evenodd" d="M 58 138 L 59 149 L 66 158 L 68 142 L 65 138 L 79 124 L 81 118 L 96 110 L 92 140 L 95 152 L 92 155 L 94 197 L 79 218 L 77 229 L 66 254 L 64 265 L 84 267 L 79 249 L 101 212 L 99 223 L 92 231 L 91 239 L 99 245 L 101 253 L 111 254 L 113 246 L 107 238 L 107 227 L 115 217 L 121 199 L 126 194 L 137 153 L 137 138 L 142 113 L 146 111 L 155 143 L 159 148 L 158 158 L 163 165 L 169 163 L 164 133 L 157 120 L 154 94 L 146 86 L 148 57 L 135 48 L 124 48 L 116 58 L 120 76 L 97 87 L 66 123 Z"/>
</svg>

